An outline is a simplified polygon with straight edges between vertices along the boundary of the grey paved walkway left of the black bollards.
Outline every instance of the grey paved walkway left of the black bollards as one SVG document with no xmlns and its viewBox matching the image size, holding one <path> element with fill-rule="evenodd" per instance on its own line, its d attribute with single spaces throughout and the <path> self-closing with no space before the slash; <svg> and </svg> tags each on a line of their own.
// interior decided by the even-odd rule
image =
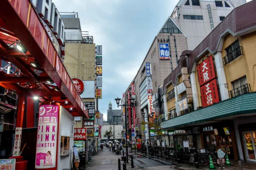
<svg viewBox="0 0 256 170">
<path fill-rule="evenodd" d="M 87 164 L 86 170 L 118 170 L 118 158 L 121 159 L 121 155 L 109 151 L 104 147 L 103 151 L 99 150 L 93 157 L 90 163 Z M 121 161 L 121 170 L 123 170 L 123 163 Z M 126 165 L 127 168 L 131 166 L 131 162 Z"/>
</svg>

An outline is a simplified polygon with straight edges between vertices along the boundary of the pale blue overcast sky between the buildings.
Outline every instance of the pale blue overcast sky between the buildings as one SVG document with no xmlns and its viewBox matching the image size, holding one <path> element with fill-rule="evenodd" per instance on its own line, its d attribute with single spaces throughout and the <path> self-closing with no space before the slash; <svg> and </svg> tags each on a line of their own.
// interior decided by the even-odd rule
<svg viewBox="0 0 256 170">
<path fill-rule="evenodd" d="M 247 0 L 250 1 L 250 0 Z M 102 45 L 103 87 L 99 110 L 106 118 L 109 101 L 136 75 L 142 60 L 178 0 L 52 0 L 60 12 L 78 12 L 82 31 Z"/>
</svg>

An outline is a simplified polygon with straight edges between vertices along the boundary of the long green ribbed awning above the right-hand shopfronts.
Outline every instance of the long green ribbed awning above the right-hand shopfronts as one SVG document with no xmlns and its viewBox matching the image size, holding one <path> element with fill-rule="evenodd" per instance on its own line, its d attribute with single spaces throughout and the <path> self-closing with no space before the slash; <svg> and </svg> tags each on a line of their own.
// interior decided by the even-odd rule
<svg viewBox="0 0 256 170">
<path fill-rule="evenodd" d="M 256 92 L 236 96 L 186 115 L 169 119 L 162 122 L 161 127 L 172 129 L 188 124 L 247 113 L 256 113 Z"/>
</svg>

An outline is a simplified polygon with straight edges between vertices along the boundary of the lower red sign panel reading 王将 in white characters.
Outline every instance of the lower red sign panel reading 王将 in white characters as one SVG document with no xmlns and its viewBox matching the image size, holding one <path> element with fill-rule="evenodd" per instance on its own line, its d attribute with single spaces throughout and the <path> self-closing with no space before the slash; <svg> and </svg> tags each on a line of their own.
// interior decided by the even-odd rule
<svg viewBox="0 0 256 170">
<path fill-rule="evenodd" d="M 213 79 L 201 86 L 200 91 L 203 107 L 210 106 L 213 103 L 218 103 L 220 101 L 216 79 Z"/>
</svg>

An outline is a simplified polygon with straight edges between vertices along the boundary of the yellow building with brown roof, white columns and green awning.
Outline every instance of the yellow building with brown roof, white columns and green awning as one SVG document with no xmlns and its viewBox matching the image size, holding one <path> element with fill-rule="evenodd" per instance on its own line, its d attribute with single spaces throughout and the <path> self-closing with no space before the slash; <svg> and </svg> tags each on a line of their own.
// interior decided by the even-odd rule
<svg viewBox="0 0 256 170">
<path fill-rule="evenodd" d="M 193 51 L 184 51 L 164 80 L 169 120 L 161 127 L 166 144 L 181 154 L 186 140 L 199 149 L 221 148 L 229 159 L 256 161 L 255 8 L 256 1 L 235 8 Z"/>
</svg>

